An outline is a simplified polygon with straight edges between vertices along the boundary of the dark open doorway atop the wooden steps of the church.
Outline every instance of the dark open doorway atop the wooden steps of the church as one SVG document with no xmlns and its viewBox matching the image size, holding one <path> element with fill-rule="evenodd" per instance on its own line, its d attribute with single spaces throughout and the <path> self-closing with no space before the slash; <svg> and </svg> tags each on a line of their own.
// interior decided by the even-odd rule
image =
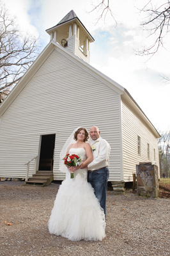
<svg viewBox="0 0 170 256">
<path fill-rule="evenodd" d="M 54 163 L 54 148 L 55 148 L 56 134 L 42 135 L 40 148 L 40 171 L 52 171 Z"/>
</svg>

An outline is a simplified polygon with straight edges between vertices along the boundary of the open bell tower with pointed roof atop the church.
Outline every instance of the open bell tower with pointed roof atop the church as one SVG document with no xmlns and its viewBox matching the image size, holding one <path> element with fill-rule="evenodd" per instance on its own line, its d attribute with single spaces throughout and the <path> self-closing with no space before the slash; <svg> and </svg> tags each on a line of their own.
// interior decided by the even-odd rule
<svg viewBox="0 0 170 256">
<path fill-rule="evenodd" d="M 66 50 L 89 63 L 89 44 L 95 40 L 73 10 L 56 26 L 46 31 L 50 35 L 50 40 L 54 40 Z"/>
</svg>

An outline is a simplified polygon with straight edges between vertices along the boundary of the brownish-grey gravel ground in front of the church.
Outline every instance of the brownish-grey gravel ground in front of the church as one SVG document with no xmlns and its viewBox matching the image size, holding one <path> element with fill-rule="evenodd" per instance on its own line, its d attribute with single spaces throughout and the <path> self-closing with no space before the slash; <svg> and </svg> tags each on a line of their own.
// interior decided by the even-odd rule
<svg viewBox="0 0 170 256">
<path fill-rule="evenodd" d="M 41 187 L 0 182 L 0 255 L 170 255 L 168 198 L 107 191 L 105 239 L 72 242 L 51 236 L 47 229 L 58 188 L 54 183 Z"/>
</svg>

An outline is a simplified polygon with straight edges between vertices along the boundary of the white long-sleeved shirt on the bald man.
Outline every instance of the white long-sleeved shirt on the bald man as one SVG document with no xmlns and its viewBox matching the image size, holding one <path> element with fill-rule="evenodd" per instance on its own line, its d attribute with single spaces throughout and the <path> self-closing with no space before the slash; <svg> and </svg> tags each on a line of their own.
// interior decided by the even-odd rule
<svg viewBox="0 0 170 256">
<path fill-rule="evenodd" d="M 95 147 L 95 150 L 93 150 L 93 161 L 88 164 L 88 170 L 93 171 L 109 166 L 109 155 L 111 152 L 109 143 L 100 136 L 97 140 L 89 138 L 88 143 L 91 147 Z"/>
</svg>

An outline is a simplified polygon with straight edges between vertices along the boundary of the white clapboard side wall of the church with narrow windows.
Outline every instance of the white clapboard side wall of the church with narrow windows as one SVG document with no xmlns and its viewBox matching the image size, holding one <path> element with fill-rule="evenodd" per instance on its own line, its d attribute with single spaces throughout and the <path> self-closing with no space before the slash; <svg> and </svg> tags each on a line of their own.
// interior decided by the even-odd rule
<svg viewBox="0 0 170 256">
<path fill-rule="evenodd" d="M 136 164 L 140 162 L 156 162 L 159 168 L 157 138 L 125 103 L 122 103 L 122 135 L 123 180 L 132 181 L 132 173 L 136 172 Z M 138 154 L 137 136 L 141 137 L 141 155 Z M 150 144 L 150 158 L 148 158 L 148 144 Z"/>
</svg>

